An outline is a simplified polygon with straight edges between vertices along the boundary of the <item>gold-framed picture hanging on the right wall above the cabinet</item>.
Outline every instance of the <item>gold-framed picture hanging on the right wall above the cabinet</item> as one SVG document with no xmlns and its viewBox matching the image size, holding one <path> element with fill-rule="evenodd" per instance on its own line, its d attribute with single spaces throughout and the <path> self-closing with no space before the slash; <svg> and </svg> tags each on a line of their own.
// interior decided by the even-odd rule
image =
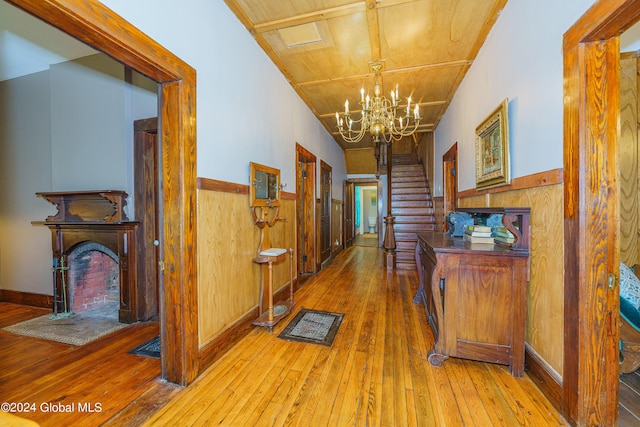
<svg viewBox="0 0 640 427">
<path fill-rule="evenodd" d="M 509 100 L 476 128 L 476 188 L 511 182 L 509 174 Z"/>
</svg>

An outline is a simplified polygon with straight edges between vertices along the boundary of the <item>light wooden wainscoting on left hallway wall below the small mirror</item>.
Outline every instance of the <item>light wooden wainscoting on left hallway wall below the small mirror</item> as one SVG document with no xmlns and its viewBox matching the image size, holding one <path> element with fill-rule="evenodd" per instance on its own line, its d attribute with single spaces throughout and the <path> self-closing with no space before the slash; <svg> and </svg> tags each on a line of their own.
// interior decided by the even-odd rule
<svg viewBox="0 0 640 427">
<path fill-rule="evenodd" d="M 239 325 L 256 310 L 260 266 L 251 260 L 260 243 L 260 230 L 249 209 L 248 186 L 204 178 L 198 182 L 198 331 L 202 351 L 226 329 L 243 328 Z M 281 199 L 279 216 L 287 220 L 270 229 L 271 243 L 295 251 L 295 195 L 283 192 Z M 294 282 L 295 277 L 294 271 Z M 288 287 L 288 263 L 274 266 L 274 283 L 276 290 Z"/>
</svg>

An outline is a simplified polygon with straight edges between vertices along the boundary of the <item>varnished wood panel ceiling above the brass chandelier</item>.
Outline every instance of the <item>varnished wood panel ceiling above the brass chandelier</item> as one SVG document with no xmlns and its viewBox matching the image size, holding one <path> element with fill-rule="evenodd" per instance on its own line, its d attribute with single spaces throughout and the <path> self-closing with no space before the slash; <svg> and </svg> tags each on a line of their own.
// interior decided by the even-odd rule
<svg viewBox="0 0 640 427">
<path fill-rule="evenodd" d="M 507 0 L 225 0 L 344 149 L 335 113 L 359 112 L 381 62 L 383 93 L 419 102 L 433 131 Z M 387 95 L 388 96 L 388 95 Z M 359 117 L 359 114 L 355 115 Z"/>
</svg>

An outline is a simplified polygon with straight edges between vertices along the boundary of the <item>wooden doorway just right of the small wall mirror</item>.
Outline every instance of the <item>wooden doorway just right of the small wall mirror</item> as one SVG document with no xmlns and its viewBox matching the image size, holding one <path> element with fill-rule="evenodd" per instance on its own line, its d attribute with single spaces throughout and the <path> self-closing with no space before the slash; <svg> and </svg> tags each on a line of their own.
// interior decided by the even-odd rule
<svg viewBox="0 0 640 427">
<path fill-rule="evenodd" d="M 306 164 L 306 165 L 311 165 L 311 167 L 309 167 L 309 169 L 313 170 L 313 174 L 311 177 L 307 177 L 306 180 L 301 180 L 300 177 L 302 176 L 302 171 L 300 170 L 300 163 Z M 311 179 L 309 179 L 311 178 Z M 303 188 L 305 189 L 305 191 L 303 191 Z M 305 197 L 306 192 L 308 192 L 309 190 L 311 190 L 311 203 L 307 204 L 306 208 L 309 209 L 311 211 L 311 215 L 309 215 L 309 218 L 305 218 L 304 217 L 304 212 L 305 212 L 305 200 L 307 200 L 307 198 Z M 316 213 L 315 213 L 315 208 L 316 208 L 316 204 L 315 204 L 315 191 L 316 191 L 316 156 L 314 154 L 312 154 L 310 151 L 308 151 L 306 148 L 304 148 L 302 145 L 296 143 L 296 246 L 298 248 L 298 266 L 297 266 L 297 270 L 298 270 L 298 280 L 300 281 L 300 278 L 302 278 L 302 273 L 303 273 L 303 266 L 304 266 L 304 259 L 303 259 L 303 253 L 305 252 L 305 248 L 304 248 L 304 232 L 305 230 L 309 230 L 309 233 L 311 234 L 310 239 L 307 240 L 311 240 L 313 242 L 312 246 L 310 247 L 312 253 L 307 254 L 307 262 L 312 262 L 313 266 L 314 266 L 314 270 L 311 272 L 312 274 L 315 274 L 317 272 L 316 270 Z"/>
</svg>

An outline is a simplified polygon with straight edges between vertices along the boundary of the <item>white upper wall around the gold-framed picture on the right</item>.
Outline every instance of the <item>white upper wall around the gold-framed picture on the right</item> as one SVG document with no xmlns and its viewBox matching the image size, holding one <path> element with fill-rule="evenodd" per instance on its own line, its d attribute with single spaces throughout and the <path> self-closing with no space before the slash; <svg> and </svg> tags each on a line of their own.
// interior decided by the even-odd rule
<svg viewBox="0 0 640 427">
<path fill-rule="evenodd" d="M 458 143 L 458 189 L 475 188 L 475 129 L 509 99 L 511 177 L 563 167 L 563 34 L 594 0 L 509 0 L 435 131 L 442 156 Z"/>
</svg>

